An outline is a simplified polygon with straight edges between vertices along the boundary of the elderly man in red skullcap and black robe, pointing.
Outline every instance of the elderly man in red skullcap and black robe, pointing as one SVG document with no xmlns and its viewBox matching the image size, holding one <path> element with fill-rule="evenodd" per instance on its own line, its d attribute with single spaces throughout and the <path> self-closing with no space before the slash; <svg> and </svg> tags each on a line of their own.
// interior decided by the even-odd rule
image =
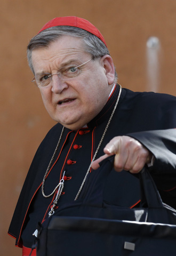
<svg viewBox="0 0 176 256">
<path fill-rule="evenodd" d="M 38 221 L 81 199 L 87 177 L 109 155 L 107 203 L 138 207 L 139 181 L 130 172 L 147 164 L 163 201 L 176 207 L 175 97 L 122 89 L 105 39 L 82 18 L 46 23 L 28 45 L 28 62 L 57 124 L 37 150 L 9 229 L 23 255 Z"/>
</svg>

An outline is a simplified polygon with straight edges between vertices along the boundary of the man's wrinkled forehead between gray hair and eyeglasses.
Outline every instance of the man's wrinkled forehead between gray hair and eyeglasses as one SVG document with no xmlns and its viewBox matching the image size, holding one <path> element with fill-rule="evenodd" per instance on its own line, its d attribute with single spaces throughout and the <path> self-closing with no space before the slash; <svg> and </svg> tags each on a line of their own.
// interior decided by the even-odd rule
<svg viewBox="0 0 176 256">
<path fill-rule="evenodd" d="M 49 71 L 47 66 L 58 69 L 71 62 L 83 63 L 87 58 L 91 58 L 91 55 L 85 51 L 82 38 L 66 35 L 51 42 L 47 47 L 34 49 L 31 54 L 37 73 Z"/>
</svg>

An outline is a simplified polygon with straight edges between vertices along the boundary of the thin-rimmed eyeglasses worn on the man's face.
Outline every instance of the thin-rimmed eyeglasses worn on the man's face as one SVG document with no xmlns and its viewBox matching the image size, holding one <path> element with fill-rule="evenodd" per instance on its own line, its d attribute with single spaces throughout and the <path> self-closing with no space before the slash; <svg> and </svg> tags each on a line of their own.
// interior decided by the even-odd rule
<svg viewBox="0 0 176 256">
<path fill-rule="evenodd" d="M 58 70 L 58 73 L 42 73 L 36 75 L 31 82 L 36 82 L 38 87 L 45 87 L 49 85 L 52 81 L 52 76 L 53 75 L 58 75 L 58 77 L 62 80 L 67 80 L 69 78 L 73 78 L 79 74 L 80 67 L 88 63 L 90 60 L 87 60 L 86 62 L 82 63 L 79 66 L 76 65 L 68 65 L 66 67 L 62 67 Z"/>
</svg>

